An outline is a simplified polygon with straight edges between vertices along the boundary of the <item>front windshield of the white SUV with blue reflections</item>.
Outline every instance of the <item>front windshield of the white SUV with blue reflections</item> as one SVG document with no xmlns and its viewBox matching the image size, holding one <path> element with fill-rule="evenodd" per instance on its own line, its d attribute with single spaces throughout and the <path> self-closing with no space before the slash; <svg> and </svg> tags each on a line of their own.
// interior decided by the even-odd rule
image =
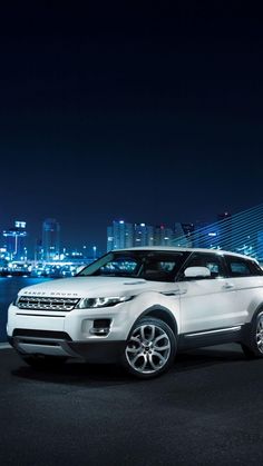
<svg viewBox="0 0 263 466">
<path fill-rule="evenodd" d="M 186 252 L 113 251 L 82 269 L 77 277 L 130 277 L 154 281 L 174 281 Z"/>
</svg>

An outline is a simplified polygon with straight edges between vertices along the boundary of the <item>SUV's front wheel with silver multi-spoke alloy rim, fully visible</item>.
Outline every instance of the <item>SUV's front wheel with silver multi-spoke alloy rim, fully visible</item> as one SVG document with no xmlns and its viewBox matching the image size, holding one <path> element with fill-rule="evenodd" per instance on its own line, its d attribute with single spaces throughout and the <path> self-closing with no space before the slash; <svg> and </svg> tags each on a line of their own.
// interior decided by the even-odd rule
<svg viewBox="0 0 263 466">
<path fill-rule="evenodd" d="M 123 364 L 134 376 L 149 379 L 168 370 L 176 354 L 176 337 L 160 319 L 138 320 L 127 339 Z"/>
</svg>

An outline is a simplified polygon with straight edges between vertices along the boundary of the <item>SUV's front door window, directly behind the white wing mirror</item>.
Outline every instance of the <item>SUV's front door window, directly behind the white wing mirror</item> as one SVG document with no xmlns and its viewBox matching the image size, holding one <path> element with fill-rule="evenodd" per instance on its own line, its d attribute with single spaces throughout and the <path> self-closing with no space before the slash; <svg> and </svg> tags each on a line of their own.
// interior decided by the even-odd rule
<svg viewBox="0 0 263 466">
<path fill-rule="evenodd" d="M 220 278 L 225 276 L 223 259 L 221 256 L 215 254 L 194 252 L 189 257 L 184 270 L 187 267 L 207 267 L 211 271 L 210 278 Z"/>
</svg>

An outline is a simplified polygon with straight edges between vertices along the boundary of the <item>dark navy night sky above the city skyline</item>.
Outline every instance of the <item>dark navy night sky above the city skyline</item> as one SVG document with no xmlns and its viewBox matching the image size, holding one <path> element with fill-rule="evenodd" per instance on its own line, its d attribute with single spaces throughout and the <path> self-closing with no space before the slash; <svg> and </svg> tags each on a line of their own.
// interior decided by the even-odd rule
<svg viewBox="0 0 263 466">
<path fill-rule="evenodd" d="M 113 219 L 262 202 L 263 17 L 242 2 L 0 10 L 0 230 L 45 218 L 106 249 Z M 244 3 L 247 6 L 247 2 Z"/>
</svg>

